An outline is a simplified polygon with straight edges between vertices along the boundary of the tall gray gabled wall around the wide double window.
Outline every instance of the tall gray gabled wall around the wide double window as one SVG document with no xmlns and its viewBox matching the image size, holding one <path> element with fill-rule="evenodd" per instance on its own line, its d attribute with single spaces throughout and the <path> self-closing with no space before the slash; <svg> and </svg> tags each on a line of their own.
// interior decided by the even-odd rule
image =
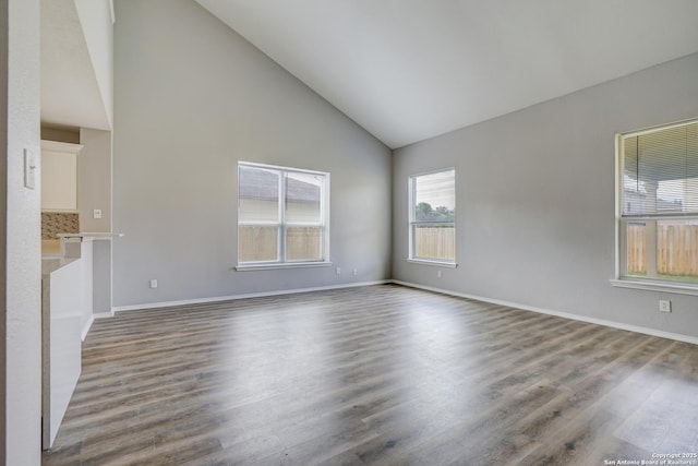
<svg viewBox="0 0 698 466">
<path fill-rule="evenodd" d="M 386 146 L 195 2 L 116 7 L 115 307 L 389 278 Z M 330 172 L 333 267 L 232 270 L 238 160 Z"/>
</svg>

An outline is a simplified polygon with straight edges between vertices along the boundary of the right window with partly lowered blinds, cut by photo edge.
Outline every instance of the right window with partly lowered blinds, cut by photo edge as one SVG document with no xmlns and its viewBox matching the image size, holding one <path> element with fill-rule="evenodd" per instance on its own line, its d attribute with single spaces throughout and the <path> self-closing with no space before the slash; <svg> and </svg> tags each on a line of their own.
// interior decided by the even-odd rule
<svg viewBox="0 0 698 466">
<path fill-rule="evenodd" d="M 698 290 L 698 121 L 618 136 L 618 275 Z"/>
</svg>

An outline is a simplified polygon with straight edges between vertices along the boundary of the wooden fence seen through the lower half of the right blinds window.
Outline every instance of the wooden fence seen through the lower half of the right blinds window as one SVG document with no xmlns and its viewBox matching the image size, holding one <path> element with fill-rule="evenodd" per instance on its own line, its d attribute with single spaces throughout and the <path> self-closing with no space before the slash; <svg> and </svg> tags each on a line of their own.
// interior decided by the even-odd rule
<svg viewBox="0 0 698 466">
<path fill-rule="evenodd" d="M 627 226 L 628 273 L 647 272 L 647 227 Z M 698 275 L 698 225 L 657 225 L 657 272 Z"/>
</svg>

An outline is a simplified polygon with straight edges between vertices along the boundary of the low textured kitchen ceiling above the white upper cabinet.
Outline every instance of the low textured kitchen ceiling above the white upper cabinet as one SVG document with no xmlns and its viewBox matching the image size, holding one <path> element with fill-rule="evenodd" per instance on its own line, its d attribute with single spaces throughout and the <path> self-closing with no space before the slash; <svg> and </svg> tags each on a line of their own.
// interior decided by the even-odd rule
<svg viewBox="0 0 698 466">
<path fill-rule="evenodd" d="M 111 128 L 74 0 L 41 0 L 41 123 Z"/>
</svg>

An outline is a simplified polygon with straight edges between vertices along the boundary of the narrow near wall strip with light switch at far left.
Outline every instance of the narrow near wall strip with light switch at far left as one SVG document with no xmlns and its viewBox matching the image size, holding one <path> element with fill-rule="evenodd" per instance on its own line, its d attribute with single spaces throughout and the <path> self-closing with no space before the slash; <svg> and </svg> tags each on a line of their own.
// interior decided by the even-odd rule
<svg viewBox="0 0 698 466">
<path fill-rule="evenodd" d="M 12 25 L 8 27 L 8 23 Z M 38 465 L 41 439 L 39 1 L 0 0 L 0 464 Z"/>
</svg>

